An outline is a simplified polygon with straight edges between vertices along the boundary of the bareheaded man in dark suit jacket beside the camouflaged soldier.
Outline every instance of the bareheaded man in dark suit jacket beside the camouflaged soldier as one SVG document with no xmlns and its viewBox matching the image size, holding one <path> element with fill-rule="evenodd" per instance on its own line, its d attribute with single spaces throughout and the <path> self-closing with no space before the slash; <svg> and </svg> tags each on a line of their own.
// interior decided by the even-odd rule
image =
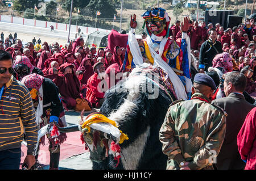
<svg viewBox="0 0 256 181">
<path fill-rule="evenodd" d="M 212 104 L 223 108 L 226 117 L 226 135 L 220 153 L 217 156 L 217 169 L 244 169 L 237 148 L 237 134 L 240 131 L 247 113 L 254 108 L 243 96 L 246 87 L 246 77 L 240 72 L 230 72 L 225 76 L 224 92 L 226 98 L 213 100 Z"/>
</svg>

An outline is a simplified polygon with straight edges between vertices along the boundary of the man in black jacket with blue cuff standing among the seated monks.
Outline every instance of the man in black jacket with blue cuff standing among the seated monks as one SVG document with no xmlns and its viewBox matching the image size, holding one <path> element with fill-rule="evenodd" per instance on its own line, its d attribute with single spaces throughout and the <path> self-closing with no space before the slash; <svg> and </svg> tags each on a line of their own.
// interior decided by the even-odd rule
<svg viewBox="0 0 256 181">
<path fill-rule="evenodd" d="M 209 40 L 205 41 L 200 48 L 199 55 L 199 69 L 203 69 L 205 71 L 208 70 L 210 66 L 212 66 L 212 60 L 216 56 L 216 54 L 222 53 L 222 47 L 220 41 L 217 41 L 217 31 L 212 28 L 209 31 Z"/>
</svg>

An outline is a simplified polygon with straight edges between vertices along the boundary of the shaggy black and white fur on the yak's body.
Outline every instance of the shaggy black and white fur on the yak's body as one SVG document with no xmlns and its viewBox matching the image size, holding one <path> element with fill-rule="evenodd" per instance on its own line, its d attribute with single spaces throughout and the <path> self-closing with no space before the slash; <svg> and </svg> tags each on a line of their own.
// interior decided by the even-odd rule
<svg viewBox="0 0 256 181">
<path fill-rule="evenodd" d="M 93 169 L 166 169 L 167 155 L 162 152 L 159 130 L 172 102 L 162 89 L 155 99 L 148 99 L 148 92 L 135 91 L 142 90 L 146 82 L 145 76 L 134 78 L 131 74 L 106 92 L 100 112 L 114 120 L 129 140 L 120 144 L 117 168 L 109 155 L 101 163 L 93 162 Z"/>
</svg>

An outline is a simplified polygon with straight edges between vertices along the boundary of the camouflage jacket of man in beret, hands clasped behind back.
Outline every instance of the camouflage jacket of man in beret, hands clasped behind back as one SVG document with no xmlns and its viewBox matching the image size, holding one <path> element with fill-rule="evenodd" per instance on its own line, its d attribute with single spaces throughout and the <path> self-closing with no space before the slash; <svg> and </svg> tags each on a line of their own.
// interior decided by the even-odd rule
<svg viewBox="0 0 256 181">
<path fill-rule="evenodd" d="M 210 102 L 203 94 L 195 93 L 195 97 Z M 198 98 L 172 103 L 160 129 L 163 153 L 168 155 L 167 169 L 180 169 L 183 161 L 190 162 L 190 169 L 213 169 L 212 153 L 218 155 L 221 149 L 226 116 L 220 107 Z"/>
</svg>

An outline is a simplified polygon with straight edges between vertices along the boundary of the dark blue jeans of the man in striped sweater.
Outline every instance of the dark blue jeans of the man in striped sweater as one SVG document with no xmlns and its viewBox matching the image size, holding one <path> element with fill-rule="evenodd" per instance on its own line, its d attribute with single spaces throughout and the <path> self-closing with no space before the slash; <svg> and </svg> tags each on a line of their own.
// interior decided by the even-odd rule
<svg viewBox="0 0 256 181">
<path fill-rule="evenodd" d="M 21 148 L 0 151 L 0 170 L 19 170 Z"/>
</svg>

